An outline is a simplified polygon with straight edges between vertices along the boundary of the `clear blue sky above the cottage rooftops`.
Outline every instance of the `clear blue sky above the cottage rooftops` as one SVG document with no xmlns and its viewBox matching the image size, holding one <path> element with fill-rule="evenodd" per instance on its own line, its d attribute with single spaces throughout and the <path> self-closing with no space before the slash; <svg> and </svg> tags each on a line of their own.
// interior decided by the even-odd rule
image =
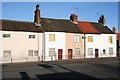
<svg viewBox="0 0 120 80">
<path fill-rule="evenodd" d="M 37 4 L 44 18 L 69 20 L 75 13 L 79 21 L 98 22 L 104 15 L 106 25 L 118 30 L 118 2 L 2 2 L 2 19 L 33 22 Z"/>
</svg>

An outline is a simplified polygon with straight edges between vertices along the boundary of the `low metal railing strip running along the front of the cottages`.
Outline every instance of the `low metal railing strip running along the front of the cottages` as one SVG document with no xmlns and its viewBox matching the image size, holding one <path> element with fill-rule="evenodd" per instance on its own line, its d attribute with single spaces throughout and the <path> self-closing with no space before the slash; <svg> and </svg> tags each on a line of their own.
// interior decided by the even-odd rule
<svg viewBox="0 0 120 80">
<path fill-rule="evenodd" d="M 119 53 L 120 54 L 120 53 Z M 102 55 L 98 55 L 99 57 L 117 57 L 106 53 L 106 54 L 102 54 Z M 43 59 L 44 57 L 41 56 L 27 56 L 27 57 L 10 57 L 10 58 L 0 58 L 0 63 L 18 63 L 18 62 L 31 62 L 31 61 L 55 61 L 55 60 L 65 60 L 65 59 L 81 59 L 84 58 L 84 55 L 46 55 L 45 59 Z M 95 54 L 92 55 L 87 55 L 86 58 L 95 58 Z"/>
</svg>

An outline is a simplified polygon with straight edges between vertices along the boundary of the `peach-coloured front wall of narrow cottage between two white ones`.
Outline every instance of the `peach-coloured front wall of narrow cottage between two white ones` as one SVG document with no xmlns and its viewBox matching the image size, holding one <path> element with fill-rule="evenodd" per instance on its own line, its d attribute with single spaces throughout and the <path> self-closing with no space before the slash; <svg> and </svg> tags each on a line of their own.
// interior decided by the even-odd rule
<svg viewBox="0 0 120 80">
<path fill-rule="evenodd" d="M 82 37 L 84 34 L 77 34 L 80 35 L 80 42 L 75 42 L 75 33 L 66 33 L 66 44 L 65 44 L 65 53 L 66 59 L 68 59 L 68 49 L 73 49 L 73 58 L 84 58 L 84 39 Z M 80 48 L 80 57 L 75 57 L 75 48 Z"/>
</svg>

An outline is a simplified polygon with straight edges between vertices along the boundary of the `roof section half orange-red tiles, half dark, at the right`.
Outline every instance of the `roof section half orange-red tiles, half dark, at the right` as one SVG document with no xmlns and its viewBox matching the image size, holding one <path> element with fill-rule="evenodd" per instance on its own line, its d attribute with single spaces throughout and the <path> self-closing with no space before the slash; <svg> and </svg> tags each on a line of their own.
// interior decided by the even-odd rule
<svg viewBox="0 0 120 80">
<path fill-rule="evenodd" d="M 86 34 L 114 34 L 114 32 L 111 31 L 107 26 L 103 26 L 102 24 L 95 22 L 79 21 L 78 27 L 83 33 Z"/>
</svg>

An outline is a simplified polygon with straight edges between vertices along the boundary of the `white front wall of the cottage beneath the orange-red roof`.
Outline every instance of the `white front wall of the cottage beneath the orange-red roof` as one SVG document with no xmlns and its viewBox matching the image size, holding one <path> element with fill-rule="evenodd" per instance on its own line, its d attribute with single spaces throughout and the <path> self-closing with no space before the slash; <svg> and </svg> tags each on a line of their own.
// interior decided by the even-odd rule
<svg viewBox="0 0 120 80">
<path fill-rule="evenodd" d="M 88 36 L 93 36 L 93 42 L 88 42 Z M 113 43 L 109 43 L 109 36 L 113 37 Z M 86 58 L 95 58 L 95 49 L 99 49 L 99 57 L 116 57 L 116 34 L 86 34 Z M 113 47 L 113 55 L 109 55 L 109 47 Z M 88 48 L 93 48 L 93 55 L 88 56 Z M 103 54 L 103 49 L 106 54 Z"/>
</svg>

